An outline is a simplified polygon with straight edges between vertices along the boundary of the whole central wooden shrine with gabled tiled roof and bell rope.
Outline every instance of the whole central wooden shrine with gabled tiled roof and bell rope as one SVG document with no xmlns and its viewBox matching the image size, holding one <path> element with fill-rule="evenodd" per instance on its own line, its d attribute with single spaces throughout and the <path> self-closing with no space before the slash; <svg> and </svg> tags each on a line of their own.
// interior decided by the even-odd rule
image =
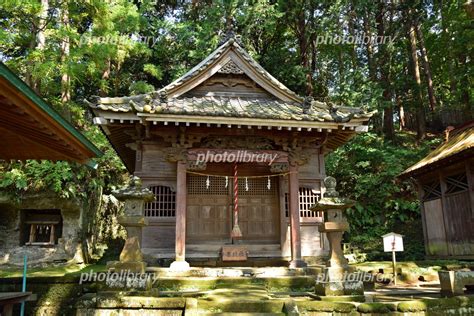
<svg viewBox="0 0 474 316">
<path fill-rule="evenodd" d="M 88 103 L 128 170 L 156 194 L 144 254 L 184 264 L 219 258 L 232 243 L 250 258 L 291 257 L 292 266 L 326 254 L 322 214 L 308 210 L 324 191 L 324 155 L 367 131 L 372 115 L 299 97 L 233 35 L 158 91 Z"/>
</svg>

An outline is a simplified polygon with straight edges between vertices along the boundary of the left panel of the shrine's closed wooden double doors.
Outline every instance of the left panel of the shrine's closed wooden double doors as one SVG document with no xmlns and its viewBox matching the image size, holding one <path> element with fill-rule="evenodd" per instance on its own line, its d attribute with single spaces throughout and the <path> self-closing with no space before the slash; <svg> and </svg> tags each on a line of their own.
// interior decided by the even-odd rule
<svg viewBox="0 0 474 316">
<path fill-rule="evenodd" d="M 230 239 L 229 185 L 225 178 L 188 176 L 187 243 L 225 242 Z"/>
</svg>

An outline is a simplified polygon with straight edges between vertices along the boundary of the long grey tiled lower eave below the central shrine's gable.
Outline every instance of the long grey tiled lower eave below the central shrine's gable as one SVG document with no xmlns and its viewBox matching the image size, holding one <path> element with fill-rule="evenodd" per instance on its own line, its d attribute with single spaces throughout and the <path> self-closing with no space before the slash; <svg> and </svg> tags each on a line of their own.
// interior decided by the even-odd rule
<svg viewBox="0 0 474 316">
<path fill-rule="evenodd" d="M 105 102 L 104 102 L 105 101 Z M 341 122 L 352 118 L 370 118 L 373 113 L 358 108 L 332 107 L 313 101 L 308 109 L 297 102 L 277 99 L 247 97 L 180 97 L 166 101 L 149 95 L 102 99 L 91 107 L 112 112 L 135 112 L 150 114 L 178 114 L 193 116 L 223 116 L 241 118 L 263 118 L 283 120 L 304 120 L 320 122 Z"/>
</svg>

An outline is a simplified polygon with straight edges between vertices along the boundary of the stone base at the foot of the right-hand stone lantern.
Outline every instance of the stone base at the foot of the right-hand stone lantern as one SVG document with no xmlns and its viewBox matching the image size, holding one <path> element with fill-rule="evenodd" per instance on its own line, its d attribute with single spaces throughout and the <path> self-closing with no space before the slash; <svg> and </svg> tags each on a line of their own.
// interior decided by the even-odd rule
<svg viewBox="0 0 474 316">
<path fill-rule="evenodd" d="M 342 267 L 329 267 L 316 277 L 315 293 L 321 296 L 364 295 L 362 274 Z"/>
</svg>

